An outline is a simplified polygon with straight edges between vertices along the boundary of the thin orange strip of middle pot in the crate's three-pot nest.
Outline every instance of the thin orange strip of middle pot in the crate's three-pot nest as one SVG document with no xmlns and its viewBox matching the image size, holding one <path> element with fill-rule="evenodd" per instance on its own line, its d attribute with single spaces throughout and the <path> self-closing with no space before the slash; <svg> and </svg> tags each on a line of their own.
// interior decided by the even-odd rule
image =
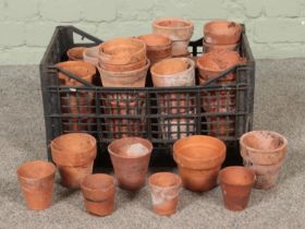
<svg viewBox="0 0 305 229">
<path fill-rule="evenodd" d="M 99 63 L 100 69 L 109 72 L 127 72 L 133 70 L 139 70 L 147 64 L 147 59 L 141 61 L 129 63 L 129 64 L 109 64 L 109 63 Z"/>
</svg>

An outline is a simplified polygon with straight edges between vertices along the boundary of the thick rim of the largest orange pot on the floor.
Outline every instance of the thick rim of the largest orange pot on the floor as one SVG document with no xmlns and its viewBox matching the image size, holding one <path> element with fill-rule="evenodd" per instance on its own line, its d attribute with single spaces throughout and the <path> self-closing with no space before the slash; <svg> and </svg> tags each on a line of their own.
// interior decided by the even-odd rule
<svg viewBox="0 0 305 229">
<path fill-rule="evenodd" d="M 181 142 L 181 141 L 185 141 L 186 138 L 194 138 L 194 137 L 204 137 L 204 138 L 210 138 L 210 140 L 215 140 L 215 141 L 217 141 L 219 144 L 220 144 L 220 147 L 221 147 L 221 149 L 220 150 L 218 150 L 218 154 L 216 155 L 216 156 L 213 156 L 213 157 L 208 157 L 208 158 L 190 158 L 190 157 L 185 157 L 185 156 L 183 156 L 182 154 L 179 154 L 179 153 L 176 153 L 178 152 L 178 144 Z M 199 144 L 196 144 L 196 145 L 194 145 L 194 144 L 188 144 L 188 145 L 191 145 L 191 147 L 193 146 L 198 146 L 198 145 L 205 145 L 205 144 L 203 144 L 203 143 L 199 143 Z M 184 145 L 184 147 L 186 147 L 186 146 L 188 146 L 188 145 Z M 184 148 L 184 147 L 181 147 L 181 148 Z M 225 144 L 223 143 L 223 141 L 221 141 L 221 140 L 219 140 L 219 138 L 217 138 L 217 137 L 213 137 L 213 136 L 209 136 L 209 135 L 191 135 L 191 136 L 186 136 L 186 137 L 183 137 L 183 138 L 180 138 L 180 140 L 178 140 L 178 141 L 175 141 L 174 142 L 174 144 L 173 144 L 173 156 L 174 156 L 174 158 L 175 158 L 175 160 L 179 160 L 179 157 L 181 157 L 181 158 L 183 158 L 184 160 L 187 160 L 187 161 L 190 161 L 190 162 L 198 162 L 198 161 L 206 161 L 206 160 L 210 160 L 210 159 L 217 159 L 217 158 L 223 158 L 223 160 L 224 160 L 224 158 L 225 158 L 225 152 L 227 152 L 227 146 L 225 146 Z M 178 155 L 179 154 L 179 155 Z M 223 161 L 222 161 L 223 162 Z"/>
</svg>

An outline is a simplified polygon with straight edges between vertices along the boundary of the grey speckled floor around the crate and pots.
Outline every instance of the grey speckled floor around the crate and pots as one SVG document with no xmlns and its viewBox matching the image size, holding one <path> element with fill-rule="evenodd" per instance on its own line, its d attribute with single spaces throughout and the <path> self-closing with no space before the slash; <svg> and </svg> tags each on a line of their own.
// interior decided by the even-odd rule
<svg viewBox="0 0 305 229">
<path fill-rule="evenodd" d="M 278 185 L 253 190 L 244 212 L 224 209 L 216 188 L 183 190 L 178 213 L 158 217 L 144 188 L 134 195 L 120 190 L 113 215 L 98 218 L 86 214 L 80 191 L 59 183 L 50 208 L 26 209 L 16 168 L 46 158 L 39 72 L 36 65 L 0 67 L 0 228 L 305 228 L 304 89 L 305 60 L 257 61 L 254 129 L 285 135 L 289 153 Z"/>
</svg>

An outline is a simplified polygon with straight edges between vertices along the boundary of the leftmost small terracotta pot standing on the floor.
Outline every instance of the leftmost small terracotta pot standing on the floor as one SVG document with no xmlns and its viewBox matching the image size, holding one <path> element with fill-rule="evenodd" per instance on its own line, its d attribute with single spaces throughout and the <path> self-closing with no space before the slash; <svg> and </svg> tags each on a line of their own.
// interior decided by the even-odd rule
<svg viewBox="0 0 305 229">
<path fill-rule="evenodd" d="M 46 209 L 52 204 L 56 167 L 34 160 L 17 169 L 19 182 L 28 209 Z"/>
</svg>

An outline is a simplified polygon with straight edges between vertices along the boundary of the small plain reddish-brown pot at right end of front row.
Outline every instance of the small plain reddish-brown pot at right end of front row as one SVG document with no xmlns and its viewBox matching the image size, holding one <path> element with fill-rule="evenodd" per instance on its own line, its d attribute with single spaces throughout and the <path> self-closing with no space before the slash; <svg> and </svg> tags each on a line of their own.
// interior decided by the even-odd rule
<svg viewBox="0 0 305 229">
<path fill-rule="evenodd" d="M 219 172 L 224 207 L 230 210 L 246 208 L 255 173 L 242 166 L 231 166 Z"/>
</svg>

